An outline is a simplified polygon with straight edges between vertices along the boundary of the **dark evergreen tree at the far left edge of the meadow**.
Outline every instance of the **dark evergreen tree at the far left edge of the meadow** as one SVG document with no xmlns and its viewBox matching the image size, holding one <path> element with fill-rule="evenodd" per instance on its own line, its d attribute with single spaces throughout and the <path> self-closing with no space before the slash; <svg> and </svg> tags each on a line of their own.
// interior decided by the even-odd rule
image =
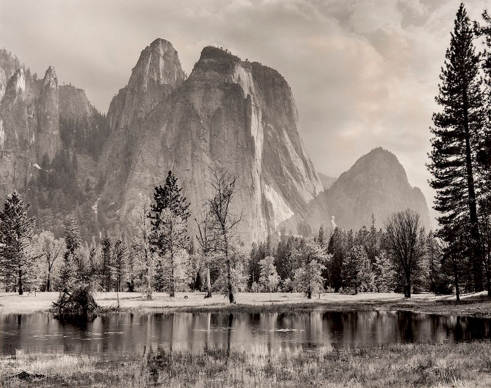
<svg viewBox="0 0 491 388">
<path fill-rule="evenodd" d="M 19 295 L 32 277 L 35 256 L 32 250 L 32 237 L 35 218 L 28 218 L 30 204 L 14 190 L 0 212 L 0 268 L 6 287 L 17 289 Z"/>
</svg>

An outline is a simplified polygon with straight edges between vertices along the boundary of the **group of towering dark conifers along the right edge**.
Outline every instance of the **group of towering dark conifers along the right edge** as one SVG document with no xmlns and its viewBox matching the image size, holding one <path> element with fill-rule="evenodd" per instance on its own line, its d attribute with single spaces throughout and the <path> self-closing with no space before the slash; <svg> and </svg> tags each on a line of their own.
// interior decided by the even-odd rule
<svg viewBox="0 0 491 388">
<path fill-rule="evenodd" d="M 437 236 L 457 300 L 462 290 L 491 296 L 491 18 L 487 11 L 482 17 L 482 25 L 472 23 L 459 7 L 431 129 Z"/>
</svg>

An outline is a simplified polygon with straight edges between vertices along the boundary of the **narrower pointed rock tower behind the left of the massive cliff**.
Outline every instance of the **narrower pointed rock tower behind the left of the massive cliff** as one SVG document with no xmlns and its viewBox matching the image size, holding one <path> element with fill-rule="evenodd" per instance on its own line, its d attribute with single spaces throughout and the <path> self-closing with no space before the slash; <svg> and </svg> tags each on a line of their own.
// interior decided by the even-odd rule
<svg viewBox="0 0 491 388">
<path fill-rule="evenodd" d="M 177 51 L 164 39 L 156 39 L 140 54 L 128 85 L 112 99 L 107 115 L 109 141 L 101 157 L 100 181 L 108 198 L 121 200 L 130 174 L 141 125 L 148 113 L 184 82 Z M 112 200 L 111 200 L 112 201 Z"/>
</svg>

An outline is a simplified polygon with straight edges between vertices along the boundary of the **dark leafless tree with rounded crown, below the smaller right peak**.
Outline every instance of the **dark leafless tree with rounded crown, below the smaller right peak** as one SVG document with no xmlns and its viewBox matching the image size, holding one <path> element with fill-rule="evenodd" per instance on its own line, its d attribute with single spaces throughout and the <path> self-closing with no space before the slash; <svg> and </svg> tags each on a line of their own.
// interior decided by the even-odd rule
<svg viewBox="0 0 491 388">
<path fill-rule="evenodd" d="M 384 222 L 384 244 L 397 274 L 403 277 L 404 296 L 411 297 L 412 283 L 424 270 L 426 233 L 419 214 L 406 209 Z"/>
</svg>

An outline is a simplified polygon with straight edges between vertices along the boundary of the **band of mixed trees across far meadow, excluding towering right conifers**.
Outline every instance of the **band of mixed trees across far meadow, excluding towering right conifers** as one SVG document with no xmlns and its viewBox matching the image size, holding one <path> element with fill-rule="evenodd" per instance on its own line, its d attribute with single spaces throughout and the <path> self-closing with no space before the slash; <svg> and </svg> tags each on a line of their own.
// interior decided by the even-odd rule
<svg viewBox="0 0 491 388">
<path fill-rule="evenodd" d="M 213 195 L 200 215 L 191 217 L 189 203 L 169 171 L 153 201 L 138 194 L 127 233 L 106 234 L 101 243 L 82 242 L 81 227 L 66 218 L 64 235 L 33 233 L 29 204 L 14 192 L 0 212 L 0 276 L 5 291 L 63 291 L 87 285 L 101 291 L 206 291 L 226 295 L 252 292 L 451 292 L 451 278 L 441 245 L 427 234 L 419 215 L 394 213 L 384 230 L 357 232 L 336 228 L 327 238 L 323 226 L 315 237 L 270 237 L 246 246 L 238 235 L 242 222 L 232 209 L 236 173 L 212 171 Z M 197 230 L 190 236 L 189 226 Z"/>
</svg>

